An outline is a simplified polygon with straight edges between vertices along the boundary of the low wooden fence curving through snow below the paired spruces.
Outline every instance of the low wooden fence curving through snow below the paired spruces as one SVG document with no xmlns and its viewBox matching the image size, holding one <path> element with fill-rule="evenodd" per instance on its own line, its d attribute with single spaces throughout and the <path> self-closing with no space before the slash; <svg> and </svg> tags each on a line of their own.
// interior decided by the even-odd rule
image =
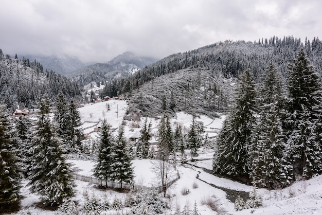
<svg viewBox="0 0 322 215">
<path fill-rule="evenodd" d="M 112 182 L 112 181 L 105 181 L 105 180 L 99 180 L 96 177 L 91 177 L 91 176 L 86 176 L 86 175 L 81 175 L 74 173 L 75 180 L 83 181 L 83 182 L 90 182 L 92 184 L 104 186 L 104 187 L 113 187 L 113 188 L 121 188 L 121 184 L 117 182 Z M 171 185 L 173 185 L 176 181 L 178 181 L 180 178 L 179 172 L 177 172 L 177 177 L 174 178 L 174 180 L 170 181 L 167 184 L 167 188 L 169 188 Z M 147 189 L 156 189 L 159 193 L 163 192 L 163 187 L 147 187 L 147 186 L 142 186 L 142 185 L 135 185 L 135 184 L 128 184 L 128 183 L 122 183 L 122 189 L 126 190 L 132 190 L 132 189 L 141 189 L 141 188 L 147 188 Z"/>
</svg>

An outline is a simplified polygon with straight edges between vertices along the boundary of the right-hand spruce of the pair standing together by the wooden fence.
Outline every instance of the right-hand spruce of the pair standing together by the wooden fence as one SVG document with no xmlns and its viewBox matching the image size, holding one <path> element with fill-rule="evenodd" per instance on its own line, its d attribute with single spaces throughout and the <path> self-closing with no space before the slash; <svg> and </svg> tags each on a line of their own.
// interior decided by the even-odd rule
<svg viewBox="0 0 322 215">
<path fill-rule="evenodd" d="M 132 160 L 127 151 L 127 145 L 128 142 L 124 137 L 124 127 L 120 126 L 114 146 L 114 162 L 111 164 L 111 169 L 113 171 L 111 180 L 120 183 L 120 188 L 122 188 L 123 183 L 132 184 L 134 178 Z"/>
</svg>

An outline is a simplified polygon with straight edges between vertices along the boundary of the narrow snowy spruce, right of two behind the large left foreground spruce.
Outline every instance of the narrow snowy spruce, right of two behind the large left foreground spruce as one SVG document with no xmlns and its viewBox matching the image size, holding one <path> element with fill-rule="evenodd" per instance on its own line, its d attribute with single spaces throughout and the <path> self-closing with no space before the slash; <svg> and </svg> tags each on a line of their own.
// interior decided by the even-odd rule
<svg viewBox="0 0 322 215">
<path fill-rule="evenodd" d="M 74 101 L 70 101 L 69 104 L 69 130 L 68 136 L 71 146 L 81 145 L 81 140 L 83 139 L 83 131 L 79 128 L 82 125 L 81 117 L 79 111 L 76 109 Z"/>
</svg>

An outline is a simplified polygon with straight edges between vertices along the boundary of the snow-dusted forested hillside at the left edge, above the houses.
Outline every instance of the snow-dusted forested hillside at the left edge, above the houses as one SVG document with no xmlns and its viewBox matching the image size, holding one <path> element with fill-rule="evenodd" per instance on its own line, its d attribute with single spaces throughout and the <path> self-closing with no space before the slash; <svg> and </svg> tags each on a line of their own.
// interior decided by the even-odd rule
<svg viewBox="0 0 322 215">
<path fill-rule="evenodd" d="M 55 98 L 59 91 L 68 98 L 81 96 L 75 82 L 52 70 L 44 71 L 37 61 L 12 58 L 0 49 L 0 99 L 8 108 L 31 108 L 44 93 Z"/>
</svg>

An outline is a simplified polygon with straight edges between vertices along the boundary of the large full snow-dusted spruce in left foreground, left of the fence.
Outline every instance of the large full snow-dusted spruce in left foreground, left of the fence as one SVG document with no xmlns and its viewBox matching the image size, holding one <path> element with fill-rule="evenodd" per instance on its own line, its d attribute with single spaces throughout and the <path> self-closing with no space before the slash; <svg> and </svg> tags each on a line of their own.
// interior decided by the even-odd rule
<svg viewBox="0 0 322 215">
<path fill-rule="evenodd" d="M 63 157 L 56 125 L 50 121 L 50 101 L 45 95 L 40 101 L 40 115 L 32 146 L 29 149 L 30 192 L 37 193 L 51 205 L 59 205 L 74 196 L 73 169 Z"/>
</svg>

